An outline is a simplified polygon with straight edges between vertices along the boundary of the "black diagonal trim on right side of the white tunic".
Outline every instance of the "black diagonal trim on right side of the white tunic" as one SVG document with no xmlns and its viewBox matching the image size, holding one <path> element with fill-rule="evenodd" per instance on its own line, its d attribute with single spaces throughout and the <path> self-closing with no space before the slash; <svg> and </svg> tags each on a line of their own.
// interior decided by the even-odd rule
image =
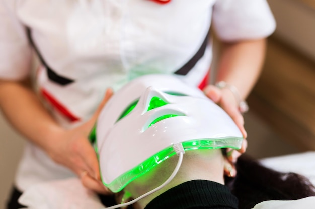
<svg viewBox="0 0 315 209">
<path fill-rule="evenodd" d="M 200 60 L 200 58 L 203 57 L 207 48 L 208 37 L 209 37 L 209 33 L 207 33 L 204 41 L 202 42 L 196 54 L 185 65 L 183 65 L 179 70 L 177 70 L 174 74 L 183 75 L 183 76 L 187 75 L 187 73 L 196 65 L 196 63 Z"/>
</svg>

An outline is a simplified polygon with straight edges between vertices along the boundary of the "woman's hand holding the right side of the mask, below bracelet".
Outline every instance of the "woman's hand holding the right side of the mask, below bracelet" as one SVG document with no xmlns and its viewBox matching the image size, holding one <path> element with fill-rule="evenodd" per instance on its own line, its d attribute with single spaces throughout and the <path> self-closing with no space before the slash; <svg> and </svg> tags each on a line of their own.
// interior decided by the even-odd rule
<svg viewBox="0 0 315 209">
<path fill-rule="evenodd" d="M 203 91 L 211 100 L 213 100 L 223 110 L 226 111 L 226 113 L 233 119 L 243 134 L 244 140 L 241 149 L 227 149 L 228 160 L 234 163 L 237 161 L 238 157 L 246 151 L 247 148 L 247 133 L 244 129 L 244 118 L 239 111 L 237 101 L 229 89 L 219 89 L 216 86 L 209 85 L 204 88 Z"/>
</svg>

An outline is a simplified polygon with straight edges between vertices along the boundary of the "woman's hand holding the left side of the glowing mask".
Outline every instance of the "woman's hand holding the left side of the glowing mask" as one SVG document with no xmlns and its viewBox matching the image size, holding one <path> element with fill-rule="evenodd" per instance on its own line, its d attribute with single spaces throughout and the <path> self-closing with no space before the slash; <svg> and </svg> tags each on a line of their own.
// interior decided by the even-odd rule
<svg viewBox="0 0 315 209">
<path fill-rule="evenodd" d="M 113 91 L 108 89 L 103 101 L 90 120 L 76 128 L 59 131 L 54 136 L 54 141 L 46 148 L 49 156 L 55 162 L 76 173 L 85 187 L 103 194 L 110 194 L 111 192 L 101 182 L 97 156 L 88 136 L 102 108 L 112 95 Z"/>
</svg>

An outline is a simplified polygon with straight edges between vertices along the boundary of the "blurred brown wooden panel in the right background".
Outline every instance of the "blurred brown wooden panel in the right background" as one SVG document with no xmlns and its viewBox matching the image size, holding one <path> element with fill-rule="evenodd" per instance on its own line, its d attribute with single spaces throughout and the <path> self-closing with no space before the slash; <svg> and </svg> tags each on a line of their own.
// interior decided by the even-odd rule
<svg viewBox="0 0 315 209">
<path fill-rule="evenodd" d="M 248 98 L 251 110 L 301 151 L 315 150 L 315 62 L 275 37 Z"/>
</svg>

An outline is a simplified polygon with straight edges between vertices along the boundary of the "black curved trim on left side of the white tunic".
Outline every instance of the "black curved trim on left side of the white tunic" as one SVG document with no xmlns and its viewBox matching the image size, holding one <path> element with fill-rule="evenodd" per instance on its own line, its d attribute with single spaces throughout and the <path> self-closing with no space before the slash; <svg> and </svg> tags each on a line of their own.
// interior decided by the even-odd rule
<svg viewBox="0 0 315 209">
<path fill-rule="evenodd" d="M 48 78 L 61 85 L 61 86 L 65 86 L 65 85 L 68 85 L 70 83 L 73 83 L 74 80 L 70 79 L 70 78 L 66 78 L 66 77 L 63 77 L 61 75 L 58 75 L 56 72 L 54 72 L 48 65 L 47 63 L 45 62 L 44 58 L 42 57 L 42 55 L 40 54 L 38 48 L 36 47 L 33 39 L 32 39 L 32 32 L 31 32 L 31 29 L 30 28 L 26 28 L 26 32 L 27 32 L 27 37 L 29 39 L 29 42 L 30 44 L 33 46 L 34 50 L 36 51 L 40 61 L 42 62 L 42 64 L 46 67 L 46 70 L 47 70 L 47 75 L 48 75 Z"/>
</svg>

